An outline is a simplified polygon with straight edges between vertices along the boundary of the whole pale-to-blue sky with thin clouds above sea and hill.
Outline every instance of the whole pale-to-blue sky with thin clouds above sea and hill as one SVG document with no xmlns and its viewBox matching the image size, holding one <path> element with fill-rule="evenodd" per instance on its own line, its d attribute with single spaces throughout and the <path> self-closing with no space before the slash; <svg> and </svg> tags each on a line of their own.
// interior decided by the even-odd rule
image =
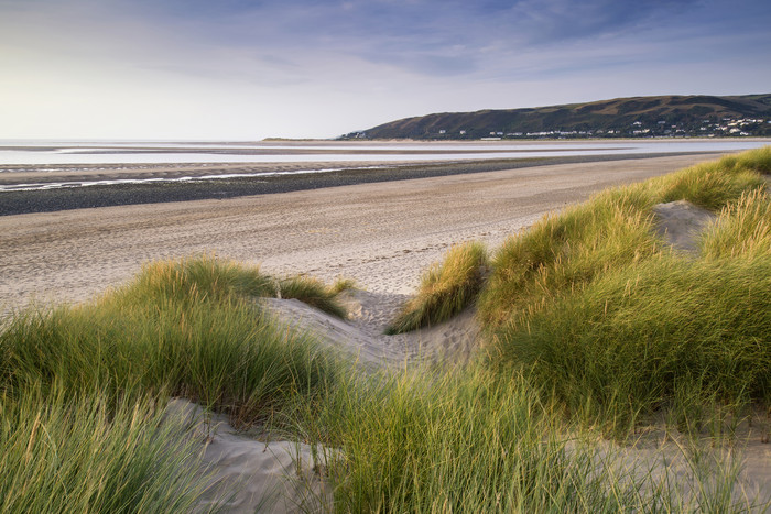
<svg viewBox="0 0 771 514">
<path fill-rule="evenodd" d="M 771 92 L 768 0 L 0 0 L 0 139 L 335 138 Z"/>
</svg>

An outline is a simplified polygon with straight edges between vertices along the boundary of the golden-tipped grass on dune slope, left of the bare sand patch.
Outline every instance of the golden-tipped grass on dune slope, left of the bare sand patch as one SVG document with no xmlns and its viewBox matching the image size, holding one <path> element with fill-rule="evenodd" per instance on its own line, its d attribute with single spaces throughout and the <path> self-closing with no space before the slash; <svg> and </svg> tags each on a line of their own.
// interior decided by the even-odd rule
<svg viewBox="0 0 771 514">
<path fill-rule="evenodd" d="M 612 189 L 509 238 L 480 295 L 481 319 L 497 326 L 514 313 L 534 314 L 604 273 L 655 254 L 652 205 L 642 187 Z"/>
</svg>

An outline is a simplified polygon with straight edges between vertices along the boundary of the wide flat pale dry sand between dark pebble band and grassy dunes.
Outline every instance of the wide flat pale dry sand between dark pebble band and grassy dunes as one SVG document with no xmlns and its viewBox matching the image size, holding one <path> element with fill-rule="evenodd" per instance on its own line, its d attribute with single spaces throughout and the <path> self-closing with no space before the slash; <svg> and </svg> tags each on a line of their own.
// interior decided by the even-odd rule
<svg viewBox="0 0 771 514">
<path fill-rule="evenodd" d="M 318 190 L 0 217 L 0 309 L 77 302 L 142 262 L 216 252 L 272 273 L 406 294 L 455 242 L 498 244 L 544 212 L 714 154 L 540 166 Z"/>
</svg>

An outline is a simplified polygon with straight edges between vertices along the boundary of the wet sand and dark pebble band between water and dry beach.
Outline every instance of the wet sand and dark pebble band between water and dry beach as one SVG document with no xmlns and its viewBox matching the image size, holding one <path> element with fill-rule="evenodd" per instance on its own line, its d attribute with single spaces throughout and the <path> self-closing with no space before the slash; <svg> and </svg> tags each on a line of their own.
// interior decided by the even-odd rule
<svg viewBox="0 0 771 514">
<path fill-rule="evenodd" d="M 655 156 L 663 155 L 644 155 L 644 157 Z M 7 165 L 0 166 L 0 216 L 50 212 L 84 207 L 237 198 L 354 184 L 642 157 L 643 155 L 578 155 L 421 163 L 340 161 L 225 164 L 70 164 L 53 167 L 48 165 Z M 318 171 L 324 172 L 317 173 Z M 150 182 L 99 184 L 105 181 Z M 30 185 L 41 187 L 62 183 L 86 184 L 87 186 L 7 190 L 19 187 L 28 188 Z"/>
</svg>

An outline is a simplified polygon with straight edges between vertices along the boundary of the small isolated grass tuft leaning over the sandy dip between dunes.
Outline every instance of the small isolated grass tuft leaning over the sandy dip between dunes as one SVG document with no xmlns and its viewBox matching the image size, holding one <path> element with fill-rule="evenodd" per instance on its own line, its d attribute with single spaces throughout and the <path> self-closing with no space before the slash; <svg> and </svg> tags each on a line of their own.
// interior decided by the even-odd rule
<svg viewBox="0 0 771 514">
<path fill-rule="evenodd" d="M 479 242 L 452 248 L 441 264 L 434 264 L 423 275 L 417 294 L 404 305 L 386 333 L 439 324 L 460 313 L 475 300 L 487 264 L 487 250 Z"/>
</svg>

